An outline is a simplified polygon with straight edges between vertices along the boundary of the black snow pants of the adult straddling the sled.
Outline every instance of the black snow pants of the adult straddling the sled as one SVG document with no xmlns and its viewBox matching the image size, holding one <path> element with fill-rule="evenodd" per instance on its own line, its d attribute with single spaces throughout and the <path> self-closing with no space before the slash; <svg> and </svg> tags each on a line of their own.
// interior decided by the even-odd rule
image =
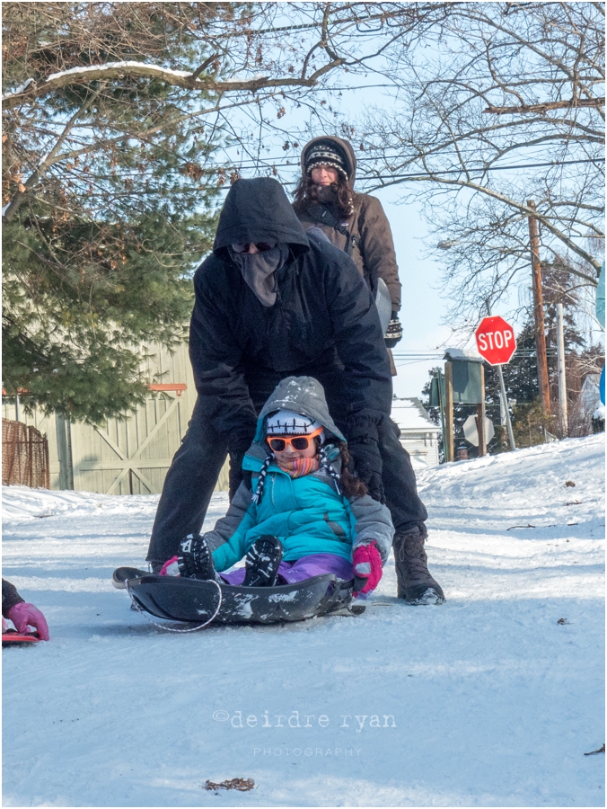
<svg viewBox="0 0 607 809">
<path fill-rule="evenodd" d="M 251 399 L 260 413 L 281 378 L 312 376 L 325 390 L 329 411 L 339 429 L 345 430 L 345 410 L 340 396 L 342 377 L 339 369 L 312 372 L 311 369 L 279 374 L 259 369 L 248 378 Z M 399 441 L 400 430 L 389 418 L 379 425 L 379 449 L 383 461 L 383 489 L 394 529 L 412 528 L 427 519 L 427 511 L 419 499 L 411 459 Z M 211 495 L 227 457 L 227 437 L 221 436 L 209 422 L 198 399 L 188 431 L 175 453 L 158 503 L 148 562 L 165 562 L 175 556 L 181 539 L 198 533 L 207 514 Z M 232 478 L 232 476 L 231 476 Z M 231 479 L 231 484 L 233 480 Z"/>
</svg>

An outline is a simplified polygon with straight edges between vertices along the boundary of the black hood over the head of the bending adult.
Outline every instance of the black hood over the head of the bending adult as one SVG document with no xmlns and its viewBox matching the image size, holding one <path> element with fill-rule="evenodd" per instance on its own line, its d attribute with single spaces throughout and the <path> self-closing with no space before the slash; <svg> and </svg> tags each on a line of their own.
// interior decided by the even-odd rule
<svg viewBox="0 0 607 809">
<path fill-rule="evenodd" d="M 295 254 L 310 249 L 282 185 L 271 177 L 237 180 L 225 198 L 213 252 L 246 242 L 290 244 Z"/>
</svg>

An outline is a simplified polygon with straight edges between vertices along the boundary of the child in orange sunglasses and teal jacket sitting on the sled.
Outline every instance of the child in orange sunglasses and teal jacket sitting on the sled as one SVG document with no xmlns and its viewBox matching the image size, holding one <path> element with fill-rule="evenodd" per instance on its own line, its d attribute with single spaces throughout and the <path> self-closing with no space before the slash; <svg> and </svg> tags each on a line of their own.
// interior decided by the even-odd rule
<svg viewBox="0 0 607 809">
<path fill-rule="evenodd" d="M 245 476 L 215 529 L 182 540 L 161 575 L 271 587 L 334 573 L 355 579 L 355 595 L 365 598 L 382 578 L 394 529 L 347 461 L 320 382 L 284 379 L 242 462 L 251 484 Z M 224 573 L 243 556 L 243 568 Z"/>
</svg>

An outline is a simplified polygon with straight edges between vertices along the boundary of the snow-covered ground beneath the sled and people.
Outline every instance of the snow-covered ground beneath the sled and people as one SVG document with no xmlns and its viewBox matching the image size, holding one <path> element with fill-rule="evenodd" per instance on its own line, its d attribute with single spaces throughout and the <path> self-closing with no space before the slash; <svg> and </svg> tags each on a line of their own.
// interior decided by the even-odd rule
<svg viewBox="0 0 607 809">
<path fill-rule="evenodd" d="M 3 652 L 4 805 L 604 805 L 603 476 L 604 436 L 435 469 L 443 606 L 390 563 L 359 618 L 184 636 L 110 584 L 155 497 L 5 488 L 4 576 L 51 642 Z"/>
</svg>

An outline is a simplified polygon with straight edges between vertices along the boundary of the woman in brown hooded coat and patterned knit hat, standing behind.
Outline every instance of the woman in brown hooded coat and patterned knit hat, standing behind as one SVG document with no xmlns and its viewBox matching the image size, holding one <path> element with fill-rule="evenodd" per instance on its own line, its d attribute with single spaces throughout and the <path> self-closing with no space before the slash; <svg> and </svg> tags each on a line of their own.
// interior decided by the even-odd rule
<svg viewBox="0 0 607 809">
<path fill-rule="evenodd" d="M 304 230 L 319 227 L 331 244 L 350 256 L 377 295 L 378 280 L 391 298 L 388 348 L 402 337 L 399 322 L 400 280 L 390 223 L 382 203 L 354 191 L 356 156 L 343 138 L 314 138 L 302 152 L 302 178 L 295 189 L 294 209 Z M 391 360 L 392 375 L 396 374 Z"/>
</svg>

